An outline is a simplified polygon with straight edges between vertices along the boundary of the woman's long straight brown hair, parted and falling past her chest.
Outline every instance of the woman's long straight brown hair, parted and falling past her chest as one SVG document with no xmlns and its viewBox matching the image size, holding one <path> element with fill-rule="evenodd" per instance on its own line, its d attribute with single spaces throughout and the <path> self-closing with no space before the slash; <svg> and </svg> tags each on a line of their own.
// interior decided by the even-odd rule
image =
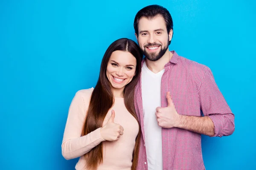
<svg viewBox="0 0 256 170">
<path fill-rule="evenodd" d="M 113 53 L 113 51 L 117 50 L 130 52 L 137 60 L 136 74 L 131 82 L 125 86 L 123 95 L 126 109 L 131 113 L 132 116 L 134 116 L 139 124 L 134 108 L 134 88 L 140 77 L 143 53 L 140 50 L 139 46 L 136 44 L 136 42 L 127 38 L 121 38 L 114 41 L 108 47 L 107 51 L 103 56 L 99 79 L 91 95 L 90 104 L 88 107 L 87 116 L 85 118 L 84 128 L 82 131 L 82 136 L 87 135 L 88 133 L 98 129 L 99 127 L 102 127 L 105 116 L 107 115 L 109 109 L 113 106 L 114 96 L 111 91 L 111 84 L 106 76 L 106 69 L 111 54 Z M 140 129 L 135 141 L 135 148 L 133 152 L 131 167 L 132 170 L 135 170 L 138 162 L 139 142 Z M 84 156 L 87 162 L 86 168 L 88 170 L 96 170 L 99 164 L 103 162 L 102 142 L 96 147 L 93 147 L 93 149 L 90 150 L 88 153 L 84 154 Z"/>
</svg>

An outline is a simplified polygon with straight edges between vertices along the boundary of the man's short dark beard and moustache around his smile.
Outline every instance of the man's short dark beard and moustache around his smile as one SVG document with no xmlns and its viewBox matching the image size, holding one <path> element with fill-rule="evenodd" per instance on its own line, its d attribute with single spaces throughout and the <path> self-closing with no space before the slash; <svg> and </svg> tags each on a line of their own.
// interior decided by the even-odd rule
<svg viewBox="0 0 256 170">
<path fill-rule="evenodd" d="M 160 48 L 160 51 L 159 53 L 157 54 L 157 52 L 154 52 L 154 53 L 148 53 L 146 51 L 146 47 L 149 47 L 149 46 L 159 46 L 158 48 Z M 158 59 L 160 59 L 161 57 L 163 57 L 163 54 L 166 53 L 167 49 L 168 49 L 168 45 L 166 45 L 164 48 L 161 48 L 162 45 L 161 44 L 158 44 L 158 43 L 148 43 L 147 45 L 144 45 L 144 55 L 145 57 L 150 60 L 150 61 L 157 61 Z"/>
</svg>

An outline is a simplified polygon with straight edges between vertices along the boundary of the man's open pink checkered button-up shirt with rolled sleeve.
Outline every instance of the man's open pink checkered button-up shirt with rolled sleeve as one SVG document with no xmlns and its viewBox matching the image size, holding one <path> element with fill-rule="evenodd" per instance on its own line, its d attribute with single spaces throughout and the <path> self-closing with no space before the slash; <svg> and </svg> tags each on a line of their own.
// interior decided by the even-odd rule
<svg viewBox="0 0 256 170">
<path fill-rule="evenodd" d="M 202 116 L 202 111 L 214 123 L 214 136 L 231 135 L 235 129 L 234 115 L 219 91 L 210 69 L 178 56 L 175 51 L 171 53 L 173 57 L 165 65 L 161 80 L 161 107 L 167 107 L 166 93 L 170 91 L 177 113 Z M 135 88 L 134 105 L 142 130 L 137 170 L 148 170 L 141 79 Z M 177 127 L 162 128 L 162 141 L 163 170 L 205 170 L 201 134 Z"/>
</svg>

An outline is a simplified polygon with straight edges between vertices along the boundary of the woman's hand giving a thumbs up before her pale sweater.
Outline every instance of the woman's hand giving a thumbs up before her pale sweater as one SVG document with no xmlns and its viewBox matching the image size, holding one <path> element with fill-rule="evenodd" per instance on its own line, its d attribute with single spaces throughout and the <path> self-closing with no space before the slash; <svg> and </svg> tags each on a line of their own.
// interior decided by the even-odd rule
<svg viewBox="0 0 256 170">
<path fill-rule="evenodd" d="M 124 128 L 114 123 L 115 111 L 111 111 L 111 117 L 107 124 L 100 129 L 100 135 L 106 141 L 117 141 L 123 135 Z"/>
</svg>

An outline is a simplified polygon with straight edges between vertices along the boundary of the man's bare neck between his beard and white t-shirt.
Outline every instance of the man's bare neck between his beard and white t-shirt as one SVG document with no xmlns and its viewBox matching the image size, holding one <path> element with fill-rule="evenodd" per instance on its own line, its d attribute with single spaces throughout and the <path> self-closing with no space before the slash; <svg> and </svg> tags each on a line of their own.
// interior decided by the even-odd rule
<svg viewBox="0 0 256 170">
<path fill-rule="evenodd" d="M 172 59 L 172 56 L 173 54 L 169 51 L 168 48 L 166 53 L 163 54 L 163 57 L 161 57 L 157 61 L 150 61 L 146 59 L 145 62 L 149 70 L 151 70 L 153 73 L 158 73 L 164 69 L 164 66 L 170 61 L 170 59 Z"/>
</svg>

